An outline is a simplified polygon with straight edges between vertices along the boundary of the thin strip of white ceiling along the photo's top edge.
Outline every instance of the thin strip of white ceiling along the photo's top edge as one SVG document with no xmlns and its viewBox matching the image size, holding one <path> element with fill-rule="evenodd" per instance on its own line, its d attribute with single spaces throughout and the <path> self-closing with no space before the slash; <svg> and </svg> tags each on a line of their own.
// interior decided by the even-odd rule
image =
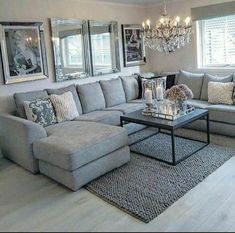
<svg viewBox="0 0 235 233">
<path fill-rule="evenodd" d="M 129 4 L 129 5 L 154 5 L 158 3 L 163 3 L 163 0 L 91 0 L 94 2 L 109 2 L 109 3 L 121 3 L 121 4 Z M 176 1 L 176 0 L 167 0 L 167 2 Z"/>
</svg>

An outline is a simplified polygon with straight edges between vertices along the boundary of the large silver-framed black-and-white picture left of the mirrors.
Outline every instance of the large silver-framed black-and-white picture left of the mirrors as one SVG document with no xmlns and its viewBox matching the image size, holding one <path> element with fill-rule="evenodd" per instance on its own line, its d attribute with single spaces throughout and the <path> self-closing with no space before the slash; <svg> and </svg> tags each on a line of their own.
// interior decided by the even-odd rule
<svg viewBox="0 0 235 233">
<path fill-rule="evenodd" d="M 0 23 L 5 84 L 48 76 L 42 23 Z"/>
</svg>

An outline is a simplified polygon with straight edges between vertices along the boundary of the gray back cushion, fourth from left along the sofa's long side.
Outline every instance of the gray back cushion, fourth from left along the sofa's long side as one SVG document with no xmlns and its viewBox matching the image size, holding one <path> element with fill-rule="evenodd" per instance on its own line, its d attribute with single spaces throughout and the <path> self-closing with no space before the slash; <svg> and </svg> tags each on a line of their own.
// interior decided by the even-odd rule
<svg viewBox="0 0 235 233">
<path fill-rule="evenodd" d="M 106 107 L 113 107 L 126 103 L 126 95 L 120 78 L 100 81 L 104 93 Z"/>
</svg>

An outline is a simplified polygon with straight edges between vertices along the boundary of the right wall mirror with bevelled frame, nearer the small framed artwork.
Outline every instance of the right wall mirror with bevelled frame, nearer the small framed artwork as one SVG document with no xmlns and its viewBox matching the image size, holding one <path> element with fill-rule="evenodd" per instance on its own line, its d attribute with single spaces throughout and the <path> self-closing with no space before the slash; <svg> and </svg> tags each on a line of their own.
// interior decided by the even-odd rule
<svg viewBox="0 0 235 233">
<path fill-rule="evenodd" d="M 92 75 L 120 71 L 117 22 L 88 21 Z"/>
</svg>

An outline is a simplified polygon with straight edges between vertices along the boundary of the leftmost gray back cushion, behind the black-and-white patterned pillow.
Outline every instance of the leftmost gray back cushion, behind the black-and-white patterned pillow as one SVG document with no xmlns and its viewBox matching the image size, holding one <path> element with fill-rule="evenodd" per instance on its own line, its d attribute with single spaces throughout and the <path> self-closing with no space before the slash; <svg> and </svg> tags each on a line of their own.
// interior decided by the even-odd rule
<svg viewBox="0 0 235 233">
<path fill-rule="evenodd" d="M 24 102 L 25 101 L 33 101 L 36 99 L 48 98 L 48 94 L 46 91 L 31 91 L 26 93 L 16 93 L 14 94 L 15 104 L 16 104 L 16 112 L 17 116 L 27 119 Z"/>
</svg>

